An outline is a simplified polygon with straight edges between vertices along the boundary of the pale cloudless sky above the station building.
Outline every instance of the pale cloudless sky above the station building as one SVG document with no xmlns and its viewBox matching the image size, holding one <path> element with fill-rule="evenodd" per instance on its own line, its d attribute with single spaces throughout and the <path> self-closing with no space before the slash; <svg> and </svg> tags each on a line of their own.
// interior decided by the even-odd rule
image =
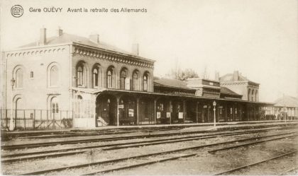
<svg viewBox="0 0 298 176">
<path fill-rule="evenodd" d="M 11 16 L 21 5 L 23 16 Z M 40 8 L 41 12 L 31 12 Z M 44 12 L 62 8 L 62 12 Z M 87 8 L 88 12 L 67 12 Z M 92 13 L 90 8 L 106 8 Z M 146 13 L 115 13 L 111 9 L 144 8 Z M 298 97 L 298 2 L 294 0 L 97 0 L 1 1 L 1 51 L 37 41 L 40 28 L 48 37 L 57 28 L 155 59 L 155 76 L 165 76 L 175 66 L 206 69 L 209 79 L 238 70 L 260 83 L 260 101 L 282 95 Z"/>
</svg>

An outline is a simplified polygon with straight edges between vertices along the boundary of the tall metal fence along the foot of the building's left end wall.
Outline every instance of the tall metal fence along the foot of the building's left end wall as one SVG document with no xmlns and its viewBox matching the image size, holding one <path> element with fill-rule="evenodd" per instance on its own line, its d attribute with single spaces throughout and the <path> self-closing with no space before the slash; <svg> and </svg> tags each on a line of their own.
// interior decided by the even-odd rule
<svg viewBox="0 0 298 176">
<path fill-rule="evenodd" d="M 1 129 L 9 129 L 11 116 L 14 129 L 67 129 L 72 127 L 73 112 L 59 110 L 0 110 Z"/>
</svg>

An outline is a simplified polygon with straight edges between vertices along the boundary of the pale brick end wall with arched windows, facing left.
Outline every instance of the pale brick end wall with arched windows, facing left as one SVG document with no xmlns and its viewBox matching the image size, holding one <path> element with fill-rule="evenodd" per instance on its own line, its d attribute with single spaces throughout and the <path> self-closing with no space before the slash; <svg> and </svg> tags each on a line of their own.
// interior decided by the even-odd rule
<svg viewBox="0 0 298 176">
<path fill-rule="evenodd" d="M 16 79 L 13 72 L 23 69 L 23 88 L 13 88 L 13 102 L 22 98 L 23 109 L 50 110 L 50 99 L 56 96 L 60 110 L 71 110 L 69 91 L 69 45 L 35 47 L 4 52 L 7 61 L 6 105 L 11 108 L 11 79 Z M 50 87 L 48 69 L 57 65 L 59 82 Z M 31 78 L 33 71 L 33 78 Z M 15 108 L 13 104 L 13 108 Z"/>
</svg>

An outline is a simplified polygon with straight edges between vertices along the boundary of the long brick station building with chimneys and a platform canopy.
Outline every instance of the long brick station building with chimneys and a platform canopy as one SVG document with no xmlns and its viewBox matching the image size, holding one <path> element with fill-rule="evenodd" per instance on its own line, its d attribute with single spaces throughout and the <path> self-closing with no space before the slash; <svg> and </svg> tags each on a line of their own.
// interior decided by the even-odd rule
<svg viewBox="0 0 298 176">
<path fill-rule="evenodd" d="M 272 103 L 259 102 L 259 84 L 238 71 L 214 80 L 153 76 L 153 59 L 57 30 L 2 53 L 1 127 L 38 129 L 107 125 L 249 121 L 265 118 Z M 216 104 L 216 105 L 214 105 Z M 11 118 L 12 117 L 12 118 Z M 59 124 L 60 123 L 60 124 Z"/>
</svg>

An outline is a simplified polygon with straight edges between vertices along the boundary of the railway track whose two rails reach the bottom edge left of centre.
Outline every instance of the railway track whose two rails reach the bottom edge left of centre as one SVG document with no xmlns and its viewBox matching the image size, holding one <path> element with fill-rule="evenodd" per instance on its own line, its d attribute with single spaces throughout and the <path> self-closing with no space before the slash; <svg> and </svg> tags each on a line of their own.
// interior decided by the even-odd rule
<svg viewBox="0 0 298 176">
<path fill-rule="evenodd" d="M 292 136 L 284 136 L 283 138 L 290 138 L 290 137 L 294 137 L 294 136 L 298 136 L 298 135 L 294 134 Z M 140 155 L 140 156 L 131 156 L 131 157 L 127 157 L 127 158 L 118 158 L 118 159 L 113 159 L 113 160 L 104 160 L 104 161 L 99 161 L 99 162 L 94 162 L 94 163 L 86 163 L 86 164 L 81 164 L 81 165 L 71 165 L 71 166 L 62 167 L 62 168 L 53 168 L 53 169 L 49 169 L 49 170 L 39 170 L 39 171 L 35 171 L 35 172 L 27 172 L 27 173 L 23 173 L 21 175 L 43 175 L 43 174 L 47 174 L 47 173 L 51 173 L 51 172 L 60 172 L 62 170 L 79 169 L 79 168 L 84 168 L 84 167 L 90 167 L 92 165 L 104 165 L 104 164 L 108 164 L 108 163 L 118 163 L 118 162 L 126 161 L 126 160 L 136 160 L 136 159 L 139 159 L 139 158 L 148 158 L 150 156 L 160 156 L 160 155 L 171 154 L 171 153 L 181 153 L 183 151 L 191 151 L 191 150 L 197 150 L 199 148 L 206 148 L 206 147 L 210 147 L 210 146 L 219 146 L 219 145 L 228 144 L 228 143 L 233 144 L 235 142 L 249 141 L 249 140 L 255 140 L 255 139 L 256 138 L 250 138 L 250 139 L 225 141 L 225 142 L 221 142 L 221 143 L 211 143 L 211 144 L 206 144 L 206 145 L 201 145 L 201 146 L 192 146 L 192 147 L 187 147 L 187 148 L 180 148 L 180 149 L 175 149 L 175 150 L 171 150 L 171 151 L 162 151 L 162 152 L 158 152 L 158 153 L 149 153 L 149 154 Z M 278 139 L 282 139 L 282 138 L 278 138 Z M 275 140 L 278 140 L 278 139 L 275 139 Z M 253 145 L 253 143 L 250 143 L 250 145 Z M 197 154 L 197 153 L 191 153 L 189 155 L 195 155 L 195 154 Z M 187 155 L 185 157 L 187 157 Z M 172 157 L 170 157 L 170 158 L 172 158 Z M 168 158 L 168 159 L 171 160 L 170 158 Z M 177 157 L 176 157 L 176 159 L 177 159 Z M 172 160 L 174 160 L 174 158 L 172 158 Z M 150 161 L 147 164 L 152 164 L 152 163 L 156 163 L 156 162 L 162 162 L 162 160 L 160 160 L 160 161 L 158 161 L 158 160 Z M 136 165 L 128 165 L 128 166 L 126 165 L 125 167 L 121 167 L 121 168 L 123 168 L 123 169 L 125 169 L 125 168 L 135 168 L 135 167 L 139 167 L 139 166 L 147 165 L 147 164 L 146 163 L 138 163 Z M 121 170 L 121 168 L 115 168 L 115 169 L 116 170 Z M 113 170 L 110 169 L 109 172 L 111 172 L 111 171 L 113 171 Z M 92 174 L 99 173 L 99 172 L 103 172 L 103 171 L 101 170 L 101 171 L 92 172 Z M 106 170 L 104 170 L 104 172 L 106 172 Z"/>
</svg>

